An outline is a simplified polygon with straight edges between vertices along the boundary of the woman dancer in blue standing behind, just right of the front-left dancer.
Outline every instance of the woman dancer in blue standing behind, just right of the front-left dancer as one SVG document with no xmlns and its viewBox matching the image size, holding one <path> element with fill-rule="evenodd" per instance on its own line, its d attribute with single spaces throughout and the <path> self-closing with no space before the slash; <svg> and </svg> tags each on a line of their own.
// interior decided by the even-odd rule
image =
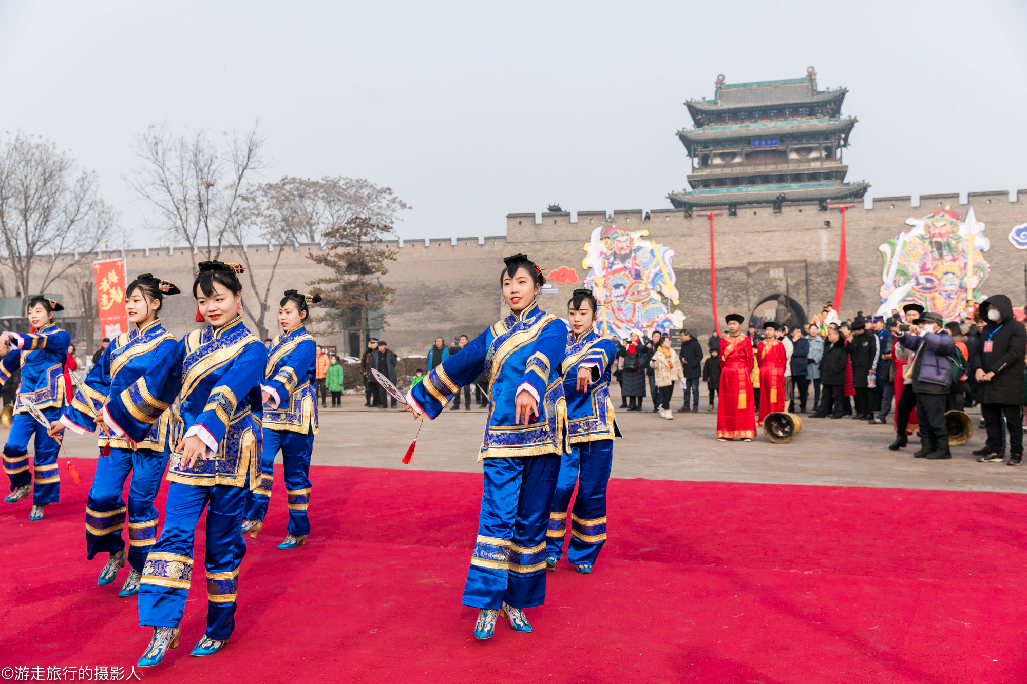
<svg viewBox="0 0 1027 684">
<path fill-rule="evenodd" d="M 307 505 L 310 502 L 310 454 L 317 434 L 317 397 L 314 396 L 314 355 L 317 345 L 304 328 L 308 306 L 320 295 L 304 295 L 289 290 L 278 304 L 281 335 L 267 350 L 264 366 L 264 454 L 260 483 L 246 495 L 242 533 L 256 538 L 264 525 L 271 499 L 274 457 L 281 450 L 289 497 L 289 534 L 278 548 L 302 546 L 310 534 Z M 268 408 L 270 407 L 270 408 Z"/>
</svg>

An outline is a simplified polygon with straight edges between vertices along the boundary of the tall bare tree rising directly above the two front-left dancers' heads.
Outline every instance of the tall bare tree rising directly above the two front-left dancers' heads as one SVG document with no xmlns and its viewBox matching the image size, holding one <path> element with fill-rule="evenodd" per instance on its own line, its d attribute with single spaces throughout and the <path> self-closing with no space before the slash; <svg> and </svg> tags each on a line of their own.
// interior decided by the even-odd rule
<svg viewBox="0 0 1027 684">
<path fill-rule="evenodd" d="M 154 216 L 146 227 L 164 232 L 196 255 L 216 259 L 235 221 L 242 184 L 265 167 L 258 126 L 239 138 L 224 134 L 224 145 L 205 130 L 174 137 L 166 124 L 151 125 L 136 139 L 136 156 L 143 160 L 127 181 Z"/>
</svg>

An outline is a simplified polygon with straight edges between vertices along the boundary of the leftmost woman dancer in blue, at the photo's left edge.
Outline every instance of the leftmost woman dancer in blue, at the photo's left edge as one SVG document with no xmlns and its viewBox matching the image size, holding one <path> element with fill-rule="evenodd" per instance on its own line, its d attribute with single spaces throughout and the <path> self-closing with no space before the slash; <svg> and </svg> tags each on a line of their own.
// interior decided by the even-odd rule
<svg viewBox="0 0 1027 684">
<path fill-rule="evenodd" d="M 68 358 L 71 335 L 53 325 L 53 312 L 64 311 L 60 303 L 45 297 L 29 300 L 29 322 L 32 333 L 0 333 L 0 353 L 9 351 L 0 362 L 0 385 L 21 366 L 22 384 L 17 405 L 3 448 L 3 470 L 10 478 L 8 503 L 20 501 L 32 491 L 29 520 L 42 520 L 43 506 L 61 500 L 61 476 L 58 472 L 58 452 L 61 445 L 36 422 L 22 402 L 31 402 L 47 420 L 56 420 L 64 407 L 64 365 Z M 29 440 L 36 438 L 35 489 L 29 474 Z"/>
</svg>

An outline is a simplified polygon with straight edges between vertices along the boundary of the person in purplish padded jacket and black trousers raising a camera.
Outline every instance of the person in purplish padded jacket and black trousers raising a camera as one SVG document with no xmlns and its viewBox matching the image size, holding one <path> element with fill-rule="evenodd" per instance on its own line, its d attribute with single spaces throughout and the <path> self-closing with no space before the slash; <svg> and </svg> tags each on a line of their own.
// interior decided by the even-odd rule
<svg viewBox="0 0 1027 684">
<path fill-rule="evenodd" d="M 913 380 L 920 419 L 921 445 L 913 454 L 916 458 L 952 458 L 945 407 L 952 385 L 951 358 L 956 347 L 951 335 L 939 334 L 943 322 L 939 314 L 924 313 L 920 325 L 899 339 L 902 346 L 914 352 L 913 363 L 906 372 Z"/>
</svg>

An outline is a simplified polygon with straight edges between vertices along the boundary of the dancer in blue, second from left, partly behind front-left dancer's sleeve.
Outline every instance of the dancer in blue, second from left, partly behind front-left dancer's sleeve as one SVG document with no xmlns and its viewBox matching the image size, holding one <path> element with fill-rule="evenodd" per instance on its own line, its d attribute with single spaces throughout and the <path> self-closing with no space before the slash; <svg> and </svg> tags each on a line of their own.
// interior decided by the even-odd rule
<svg viewBox="0 0 1027 684">
<path fill-rule="evenodd" d="M 143 273 L 128 284 L 125 289 L 125 313 L 131 330 L 114 338 L 89 371 L 82 383 L 88 396 L 76 391 L 61 420 L 50 423 L 49 434 L 59 442 L 66 427 L 77 434 L 92 434 L 99 424 L 97 446 L 102 451 L 85 506 L 85 557 L 91 561 L 97 554 L 108 554 L 107 565 L 100 571 L 97 580 L 100 586 L 114 581 L 127 558 L 131 570 L 119 597 L 139 593 L 147 552 L 157 541 L 157 509 L 153 506 L 153 499 L 160 489 L 167 459 L 180 434 L 181 419 L 174 408 L 168 409 L 141 442 L 131 443 L 124 436 L 111 434 L 104 425 L 100 409 L 107 404 L 108 392 L 115 379 L 121 384 L 134 382 L 150 368 L 154 358 L 162 358 L 175 350 L 178 342 L 160 325 L 160 308 L 165 295 L 178 295 L 180 292 L 170 282 L 155 278 L 151 273 Z M 129 472 L 132 478 L 128 505 L 125 506 L 121 490 Z M 126 511 L 127 556 L 121 538 Z"/>
</svg>

